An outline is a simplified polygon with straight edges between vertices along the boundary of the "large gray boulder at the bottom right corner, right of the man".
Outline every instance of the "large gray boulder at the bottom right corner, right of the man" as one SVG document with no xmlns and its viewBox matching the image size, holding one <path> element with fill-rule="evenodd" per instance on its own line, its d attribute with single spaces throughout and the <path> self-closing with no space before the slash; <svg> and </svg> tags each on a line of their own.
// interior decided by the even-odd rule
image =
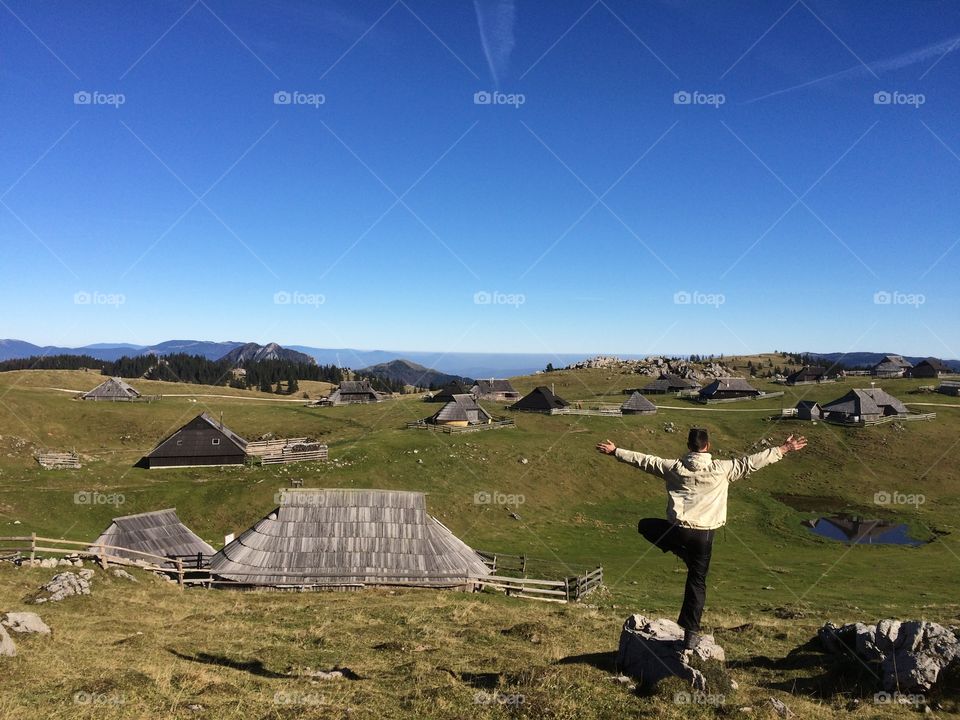
<svg viewBox="0 0 960 720">
<path fill-rule="evenodd" d="M 876 625 L 827 623 L 818 633 L 824 649 L 856 654 L 880 665 L 887 692 L 927 693 L 943 670 L 960 662 L 960 640 L 950 628 L 925 620 L 881 620 Z"/>
</svg>

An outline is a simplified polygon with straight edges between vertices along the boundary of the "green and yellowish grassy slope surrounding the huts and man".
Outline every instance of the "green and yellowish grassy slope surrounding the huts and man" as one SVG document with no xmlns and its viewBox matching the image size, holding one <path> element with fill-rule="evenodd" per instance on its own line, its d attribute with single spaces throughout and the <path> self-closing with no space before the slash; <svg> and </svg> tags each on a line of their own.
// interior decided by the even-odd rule
<svg viewBox="0 0 960 720">
<path fill-rule="evenodd" d="M 519 378 L 515 384 L 526 391 L 544 382 L 554 383 L 556 391 L 568 400 L 615 402 L 622 400 L 622 388 L 642 384 L 643 378 L 608 370 L 562 371 Z M 787 388 L 783 404 L 791 407 L 801 397 L 830 400 L 855 383 L 859 385 L 850 380 Z M 481 714 L 502 711 L 474 706 L 471 693 L 482 683 L 478 685 L 476 678 L 454 677 L 447 672 L 451 668 L 454 674 L 510 674 L 530 668 L 544 673 L 542 680 L 502 680 L 504 687 L 514 692 L 521 688 L 536 696 L 536 702 L 528 700 L 518 710 L 535 717 L 563 716 L 569 703 L 576 703 L 587 715 L 609 711 L 611 716 L 628 712 L 669 716 L 675 709 L 668 701 L 638 699 L 612 688 L 603 679 L 603 669 L 554 661 L 614 648 L 619 623 L 628 611 L 668 617 L 676 613 L 682 588 L 677 564 L 649 552 L 635 529 L 638 517 L 662 514 L 662 487 L 593 450 L 598 439 L 611 437 L 619 445 L 676 456 L 682 452 L 684 433 L 664 432 L 664 423 L 670 421 L 681 430 L 693 423 L 707 425 L 721 455 L 747 451 L 763 437 L 780 441 L 796 429 L 811 440 L 804 453 L 733 489 L 730 524 L 715 548 L 706 622 L 710 627 L 731 627 L 749 621 L 757 628 L 746 633 L 719 633 L 734 665 L 744 663 L 735 673 L 744 688 L 744 702 L 753 702 L 757 693 L 769 694 L 768 687 L 780 687 L 791 675 L 816 674 L 809 668 L 765 667 L 769 663 L 749 658 L 756 654 L 782 656 L 809 638 L 825 620 L 873 621 L 898 616 L 956 623 L 960 617 L 956 535 L 918 549 L 851 549 L 809 535 L 800 520 L 810 514 L 774 499 L 778 493 L 829 497 L 836 507 L 882 515 L 873 505 L 876 492 L 920 492 L 927 502 L 917 509 L 898 508 L 897 517 L 925 535 L 933 528 L 952 531 L 960 505 L 956 472 L 949 460 L 937 461 L 956 441 L 960 408 L 949 407 L 958 404 L 955 398 L 909 394 L 911 388 L 929 381 L 882 383 L 908 402 L 942 406 L 937 421 L 908 424 L 902 430 L 892 425 L 858 430 L 766 420 L 779 410 L 779 400 L 736 403 L 714 410 L 669 398 L 656 401 L 682 409 L 661 409 L 654 417 L 617 419 L 519 415 L 516 429 L 455 437 L 401 429 L 404 422 L 430 412 L 429 406 L 413 397 L 376 406 L 313 409 L 296 403 L 228 398 L 94 404 L 46 389 L 88 389 L 93 384 L 89 375 L 81 372 L 0 374 L 0 534 L 36 530 L 54 537 L 86 539 L 99 533 L 114 515 L 176 506 L 188 525 L 219 546 L 225 533 L 240 531 L 266 514 L 273 507 L 277 488 L 288 485 L 291 477 L 302 477 L 306 486 L 427 491 L 432 512 L 474 547 L 526 552 L 571 565 L 601 562 L 609 592 L 598 609 L 558 610 L 452 593 L 439 598 L 432 593 L 389 595 L 379 591 L 360 595 L 196 591 L 180 595 L 165 585 L 149 583 L 137 586 L 131 597 L 130 588 L 106 587 L 104 583 L 103 592 L 92 598 L 44 611 L 45 616 L 51 614 L 55 627 L 64 630 L 49 647 L 42 641 L 26 643 L 30 652 L 13 661 L 14 678 L 23 679 L 51 664 L 80 663 L 103 682 L 113 682 L 109 678 L 118 669 L 124 677 L 146 675 L 149 682 L 144 682 L 150 689 L 143 691 L 145 694 L 137 690 L 136 697 L 145 703 L 144 708 L 152 708 L 151 712 L 182 701 L 217 707 L 217 716 L 223 717 L 231 716 L 230 708 L 240 713 L 248 705 L 258 708 L 248 716 L 298 716 L 297 712 L 285 715 L 289 708 L 272 702 L 272 693 L 285 688 L 286 680 L 178 658 L 170 653 L 175 646 L 185 655 L 259 659 L 277 673 L 285 672 L 290 664 L 317 667 L 339 662 L 362 675 L 383 675 L 382 681 L 345 683 L 346 687 L 338 685 L 335 691 L 320 688 L 324 697 L 334 699 L 333 707 L 353 707 L 360 716 L 365 707 L 397 716 L 414 710 L 444 717 L 472 715 L 476 710 Z M 762 382 L 756 385 L 782 389 Z M 165 393 L 259 395 L 224 392 L 223 388 L 162 387 Z M 158 392 L 153 388 L 143 391 Z M 330 445 L 336 462 L 250 469 L 132 469 L 158 438 L 202 409 L 216 415 L 223 412 L 225 422 L 247 437 L 272 431 L 321 438 Z M 760 411 L 764 409 L 769 412 Z M 39 470 L 32 460 L 37 447 L 76 448 L 85 456 L 84 468 Z M 521 464 L 522 457 L 529 463 Z M 124 502 L 119 507 L 75 504 L 75 493 L 92 490 L 120 493 Z M 519 512 L 521 520 L 511 519 L 505 507 L 474 504 L 477 492 L 523 495 L 523 505 L 511 508 Z M 14 520 L 21 524 L 13 525 Z M 8 568 L 0 572 L 4 579 L 0 609 L 11 610 L 20 609 L 23 595 L 49 575 L 49 571 Z M 154 606 L 158 608 L 156 619 L 148 620 L 152 616 L 143 608 Z M 778 619 L 774 611 L 783 607 L 802 610 L 805 617 Z M 191 616 L 195 619 L 187 623 L 187 629 L 179 621 L 170 622 L 170 618 Z M 208 626 L 214 618 L 216 622 Z M 283 622 L 276 622 L 278 618 Z M 288 622 L 288 618 L 295 619 Z M 399 656 L 373 650 L 377 638 L 382 642 L 398 632 L 395 622 L 400 623 L 401 633 L 433 638 L 426 644 L 438 649 Z M 544 624 L 540 644 L 500 634 L 524 622 Z M 131 655 L 136 661 L 122 660 L 125 655 L 119 651 L 103 654 L 78 645 L 81 641 L 100 643 L 98 631 L 106 633 L 104 644 L 107 640 L 112 643 L 144 623 L 152 629 L 136 628 L 144 630 L 146 638 L 136 640 L 136 653 Z M 80 631 L 66 629 L 72 626 Z M 296 642 L 287 642 L 291 634 L 298 638 Z M 317 638 L 323 638 L 322 642 Z M 67 677 L 73 676 L 68 673 Z M 64 717 L 77 716 L 71 715 L 77 708 L 70 704 L 69 693 L 64 696 L 71 687 L 71 693 L 76 691 L 82 677 L 79 673 L 75 677 L 70 682 L 53 678 L 40 684 L 37 692 L 47 699 L 47 709 L 59 707 Z M 117 682 L 127 687 L 126 680 Z M 224 690 L 220 698 L 215 691 L 204 691 L 204 683 L 235 685 L 236 689 Z M 584 693 L 586 699 L 576 699 Z M 198 694 L 207 700 L 183 700 Z M 792 705 L 801 702 L 788 701 Z M 3 702 L 16 701 L 7 697 Z M 741 699 L 730 702 L 740 703 Z M 7 707 L 12 711 L 13 706 Z M 298 710 L 328 716 L 320 708 L 301 706 Z"/>
</svg>

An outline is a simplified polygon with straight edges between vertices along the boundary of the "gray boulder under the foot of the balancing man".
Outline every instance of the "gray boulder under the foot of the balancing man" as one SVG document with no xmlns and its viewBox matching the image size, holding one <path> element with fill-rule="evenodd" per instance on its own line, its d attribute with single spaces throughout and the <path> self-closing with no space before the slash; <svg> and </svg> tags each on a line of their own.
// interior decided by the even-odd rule
<svg viewBox="0 0 960 720">
<path fill-rule="evenodd" d="M 683 628 L 672 620 L 648 620 L 643 615 L 631 615 L 623 623 L 617 669 L 637 680 L 646 688 L 653 688 L 666 677 L 676 676 L 690 682 L 698 691 L 707 691 L 707 679 L 691 661 L 698 665 L 715 661 L 722 663 L 726 656 L 712 635 L 702 635 L 700 644 L 691 653 L 682 653 Z"/>
</svg>

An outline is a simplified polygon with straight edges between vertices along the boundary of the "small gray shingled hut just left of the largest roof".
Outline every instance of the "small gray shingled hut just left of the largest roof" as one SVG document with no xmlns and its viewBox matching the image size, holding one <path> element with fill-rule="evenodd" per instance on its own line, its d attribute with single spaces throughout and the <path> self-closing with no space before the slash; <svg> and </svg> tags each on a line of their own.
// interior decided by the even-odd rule
<svg viewBox="0 0 960 720">
<path fill-rule="evenodd" d="M 180 558 L 194 567 L 197 563 L 201 566 L 205 565 L 210 556 L 216 552 L 180 522 L 176 508 L 114 518 L 110 526 L 100 533 L 100 537 L 90 546 L 90 552 L 99 553 L 99 545 L 113 545 L 172 559 Z M 136 552 L 124 552 L 111 548 L 106 548 L 103 552 L 108 556 L 128 560 L 158 562 L 153 558 L 138 555 Z M 168 563 L 168 566 L 172 564 Z"/>
</svg>

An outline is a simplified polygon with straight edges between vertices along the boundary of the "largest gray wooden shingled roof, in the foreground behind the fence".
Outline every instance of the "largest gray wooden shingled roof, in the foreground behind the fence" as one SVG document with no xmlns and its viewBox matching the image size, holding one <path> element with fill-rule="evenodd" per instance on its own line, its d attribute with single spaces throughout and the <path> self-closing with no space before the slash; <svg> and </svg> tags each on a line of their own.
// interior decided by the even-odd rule
<svg viewBox="0 0 960 720">
<path fill-rule="evenodd" d="M 293 489 L 210 562 L 249 585 L 452 587 L 489 574 L 473 550 L 427 514 L 423 493 Z"/>
</svg>

